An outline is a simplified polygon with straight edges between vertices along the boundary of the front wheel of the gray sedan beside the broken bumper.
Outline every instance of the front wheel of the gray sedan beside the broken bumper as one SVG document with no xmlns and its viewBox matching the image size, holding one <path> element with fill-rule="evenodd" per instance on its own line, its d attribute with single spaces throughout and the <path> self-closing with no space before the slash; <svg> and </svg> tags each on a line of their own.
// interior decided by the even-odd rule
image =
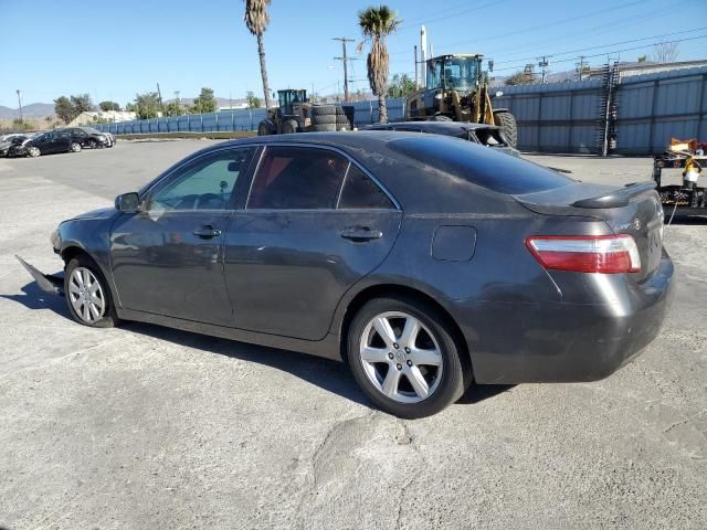
<svg viewBox="0 0 707 530">
<path fill-rule="evenodd" d="M 78 324 L 89 328 L 112 328 L 119 324 L 110 287 L 88 256 L 76 256 L 66 264 L 64 294 L 68 312 Z"/>
</svg>

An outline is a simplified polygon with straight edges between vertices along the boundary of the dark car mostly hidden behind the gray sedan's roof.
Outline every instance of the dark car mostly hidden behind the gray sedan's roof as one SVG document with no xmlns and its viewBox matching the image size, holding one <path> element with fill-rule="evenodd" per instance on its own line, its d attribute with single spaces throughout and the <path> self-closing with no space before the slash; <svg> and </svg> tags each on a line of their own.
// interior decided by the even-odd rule
<svg viewBox="0 0 707 530">
<path fill-rule="evenodd" d="M 373 124 L 361 130 L 397 130 L 404 132 L 426 132 L 430 135 L 453 136 L 473 141 L 482 146 L 492 147 L 514 157 L 519 157 L 517 149 L 506 140 L 500 127 L 486 124 L 471 124 L 465 121 L 394 121 L 391 124 Z"/>
</svg>

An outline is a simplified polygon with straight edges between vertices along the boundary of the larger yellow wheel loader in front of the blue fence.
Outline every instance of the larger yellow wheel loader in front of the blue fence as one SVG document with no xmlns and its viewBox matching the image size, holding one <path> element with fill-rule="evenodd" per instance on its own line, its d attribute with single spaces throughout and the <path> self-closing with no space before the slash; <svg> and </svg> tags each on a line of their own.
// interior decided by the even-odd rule
<svg viewBox="0 0 707 530">
<path fill-rule="evenodd" d="M 407 118 L 497 125 L 516 147 L 516 118 L 507 108 L 493 108 L 482 59 L 482 54 L 454 53 L 426 60 L 426 86 L 408 96 Z"/>
</svg>

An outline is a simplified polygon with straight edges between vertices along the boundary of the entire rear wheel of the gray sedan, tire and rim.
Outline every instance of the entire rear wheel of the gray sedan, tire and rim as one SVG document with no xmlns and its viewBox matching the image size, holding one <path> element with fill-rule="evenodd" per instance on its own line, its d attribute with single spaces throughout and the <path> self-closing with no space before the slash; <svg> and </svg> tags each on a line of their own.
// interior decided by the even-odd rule
<svg viewBox="0 0 707 530">
<path fill-rule="evenodd" d="M 386 340 L 377 319 L 388 322 Z M 405 339 L 407 325 L 415 322 L 419 331 Z M 410 420 L 430 416 L 457 401 L 471 381 L 465 351 L 454 336 L 446 318 L 428 304 L 407 297 L 376 298 L 351 321 L 349 365 L 363 393 L 382 411 Z"/>
</svg>

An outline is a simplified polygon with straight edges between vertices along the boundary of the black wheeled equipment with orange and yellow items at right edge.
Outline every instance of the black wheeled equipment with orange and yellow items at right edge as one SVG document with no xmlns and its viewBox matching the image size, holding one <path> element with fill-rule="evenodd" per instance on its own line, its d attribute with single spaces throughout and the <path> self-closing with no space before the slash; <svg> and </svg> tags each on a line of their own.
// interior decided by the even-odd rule
<svg viewBox="0 0 707 530">
<path fill-rule="evenodd" d="M 697 186 L 703 167 L 707 167 L 706 147 L 697 140 L 673 138 L 665 152 L 654 157 L 653 180 L 663 208 L 671 216 L 707 215 L 707 188 Z M 663 186 L 663 170 L 669 168 L 684 170 L 682 184 Z"/>
</svg>

